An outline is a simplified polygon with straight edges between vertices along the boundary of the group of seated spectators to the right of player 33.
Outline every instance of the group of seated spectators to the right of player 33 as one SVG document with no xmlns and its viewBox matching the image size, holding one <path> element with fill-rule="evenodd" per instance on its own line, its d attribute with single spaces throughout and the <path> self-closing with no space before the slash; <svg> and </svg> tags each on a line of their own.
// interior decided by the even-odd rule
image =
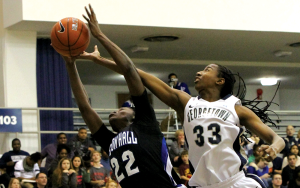
<svg viewBox="0 0 300 188">
<path fill-rule="evenodd" d="M 292 125 L 286 127 L 285 148 L 272 162 L 267 162 L 266 154 L 260 150 L 264 141 L 256 135 L 243 139 L 241 146 L 245 149 L 248 163 L 245 167 L 247 174 L 255 174 L 268 188 L 300 188 L 300 156 L 299 138 L 294 136 Z"/>
</svg>

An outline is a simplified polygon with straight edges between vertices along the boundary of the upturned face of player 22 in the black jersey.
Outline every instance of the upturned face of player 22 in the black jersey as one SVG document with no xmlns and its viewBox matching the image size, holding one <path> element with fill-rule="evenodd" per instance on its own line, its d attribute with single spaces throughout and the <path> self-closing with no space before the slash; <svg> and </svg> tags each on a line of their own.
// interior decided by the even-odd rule
<svg viewBox="0 0 300 188">
<path fill-rule="evenodd" d="M 109 123 L 114 131 L 119 132 L 120 129 L 124 128 L 120 122 L 130 122 L 133 115 L 134 111 L 131 108 L 122 107 L 118 111 L 109 114 Z"/>
</svg>

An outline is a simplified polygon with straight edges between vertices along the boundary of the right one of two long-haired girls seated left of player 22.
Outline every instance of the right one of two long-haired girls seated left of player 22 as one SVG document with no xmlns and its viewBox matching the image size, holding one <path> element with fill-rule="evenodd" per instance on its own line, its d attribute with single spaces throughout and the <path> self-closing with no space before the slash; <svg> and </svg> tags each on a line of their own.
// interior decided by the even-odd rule
<svg viewBox="0 0 300 188">
<path fill-rule="evenodd" d="M 72 158 L 73 169 L 77 176 L 77 188 L 85 188 L 87 183 L 90 183 L 90 170 L 85 169 L 83 161 L 80 156 L 74 156 Z"/>
</svg>

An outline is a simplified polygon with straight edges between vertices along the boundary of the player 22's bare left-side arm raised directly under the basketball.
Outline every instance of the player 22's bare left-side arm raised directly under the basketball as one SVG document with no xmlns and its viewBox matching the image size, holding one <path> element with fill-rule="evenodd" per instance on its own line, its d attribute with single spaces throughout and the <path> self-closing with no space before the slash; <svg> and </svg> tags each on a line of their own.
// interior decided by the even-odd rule
<svg viewBox="0 0 300 188">
<path fill-rule="evenodd" d="M 75 96 L 77 105 L 81 112 L 82 118 L 89 127 L 92 134 L 97 132 L 102 126 L 103 122 L 98 116 L 98 114 L 92 109 L 87 93 L 84 86 L 80 80 L 75 59 L 69 57 L 63 57 L 66 62 L 66 68 L 68 71 L 69 79 L 73 94 Z"/>
</svg>

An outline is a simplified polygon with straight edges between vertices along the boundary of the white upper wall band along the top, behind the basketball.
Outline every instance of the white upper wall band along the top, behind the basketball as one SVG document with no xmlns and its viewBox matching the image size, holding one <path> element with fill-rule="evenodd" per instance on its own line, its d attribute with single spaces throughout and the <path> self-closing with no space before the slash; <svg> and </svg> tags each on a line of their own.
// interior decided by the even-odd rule
<svg viewBox="0 0 300 188">
<path fill-rule="evenodd" d="M 102 24 L 208 28 L 225 30 L 299 32 L 300 2 L 295 0 L 4 0 L 5 27 L 23 20 L 57 22 L 64 17 L 82 19 L 91 3 Z M 20 11 L 20 7 L 22 8 Z M 37 8 L 38 7 L 38 8 Z M 15 12 L 17 10 L 17 12 Z M 114 16 L 108 16 L 108 15 Z M 6 17 L 5 16 L 5 17 Z"/>
</svg>

